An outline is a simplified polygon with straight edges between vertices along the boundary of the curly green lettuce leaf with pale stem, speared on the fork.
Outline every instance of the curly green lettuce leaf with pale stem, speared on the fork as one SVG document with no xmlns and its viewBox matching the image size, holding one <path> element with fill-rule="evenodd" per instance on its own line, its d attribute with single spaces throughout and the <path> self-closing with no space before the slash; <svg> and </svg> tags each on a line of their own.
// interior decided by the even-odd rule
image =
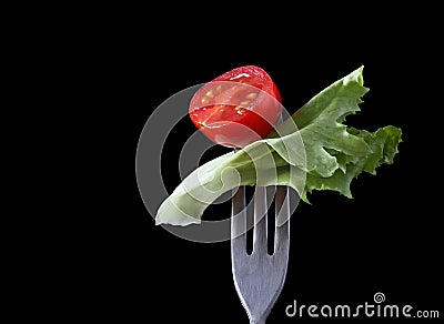
<svg viewBox="0 0 444 324">
<path fill-rule="evenodd" d="M 352 198 L 352 180 L 393 163 L 402 141 L 395 126 L 369 132 L 344 124 L 369 91 L 362 72 L 363 67 L 321 91 L 266 139 L 199 166 L 160 205 L 157 224 L 200 223 L 212 202 L 239 185 L 287 185 L 305 202 L 313 190 Z"/>
</svg>

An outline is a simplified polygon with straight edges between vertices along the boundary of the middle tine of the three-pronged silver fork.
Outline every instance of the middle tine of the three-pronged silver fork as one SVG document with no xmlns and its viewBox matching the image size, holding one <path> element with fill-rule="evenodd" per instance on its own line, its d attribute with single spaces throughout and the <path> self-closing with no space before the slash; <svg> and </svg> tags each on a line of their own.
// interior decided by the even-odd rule
<svg viewBox="0 0 444 324">
<path fill-rule="evenodd" d="M 253 253 L 266 252 L 266 188 L 256 186 L 254 193 Z"/>
</svg>

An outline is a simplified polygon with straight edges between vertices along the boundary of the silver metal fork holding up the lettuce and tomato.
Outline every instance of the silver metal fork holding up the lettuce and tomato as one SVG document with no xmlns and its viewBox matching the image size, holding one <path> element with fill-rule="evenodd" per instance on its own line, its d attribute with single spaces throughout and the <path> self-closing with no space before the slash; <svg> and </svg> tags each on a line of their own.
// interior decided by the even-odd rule
<svg viewBox="0 0 444 324">
<path fill-rule="evenodd" d="M 286 186 L 275 191 L 274 253 L 268 253 L 266 188 L 254 193 L 253 252 L 246 253 L 245 188 L 232 198 L 231 264 L 234 286 L 250 323 L 265 323 L 284 285 L 290 249 L 290 199 Z"/>
</svg>

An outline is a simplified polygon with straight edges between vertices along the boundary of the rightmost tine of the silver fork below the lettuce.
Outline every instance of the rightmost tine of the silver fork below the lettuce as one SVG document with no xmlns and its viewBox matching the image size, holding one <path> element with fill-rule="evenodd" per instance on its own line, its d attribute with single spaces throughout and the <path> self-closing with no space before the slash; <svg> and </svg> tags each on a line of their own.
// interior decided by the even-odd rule
<svg viewBox="0 0 444 324">
<path fill-rule="evenodd" d="M 290 196 L 286 186 L 276 186 L 274 251 L 287 251 L 290 245 Z"/>
</svg>

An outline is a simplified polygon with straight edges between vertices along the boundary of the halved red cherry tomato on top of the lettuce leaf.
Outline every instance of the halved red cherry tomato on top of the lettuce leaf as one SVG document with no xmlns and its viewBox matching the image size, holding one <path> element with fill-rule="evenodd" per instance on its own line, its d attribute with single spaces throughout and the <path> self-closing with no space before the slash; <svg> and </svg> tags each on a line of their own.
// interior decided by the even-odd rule
<svg viewBox="0 0 444 324">
<path fill-rule="evenodd" d="M 213 142 L 243 148 L 266 136 L 282 112 L 281 94 L 261 68 L 233 69 L 200 88 L 190 102 L 193 123 Z"/>
</svg>

